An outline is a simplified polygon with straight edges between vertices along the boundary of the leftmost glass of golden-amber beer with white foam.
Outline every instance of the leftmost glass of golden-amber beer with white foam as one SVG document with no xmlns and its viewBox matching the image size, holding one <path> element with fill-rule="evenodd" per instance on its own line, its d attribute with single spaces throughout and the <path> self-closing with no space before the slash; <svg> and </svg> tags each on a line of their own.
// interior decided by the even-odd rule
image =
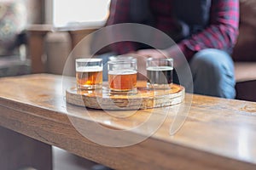
<svg viewBox="0 0 256 170">
<path fill-rule="evenodd" d="M 102 68 L 102 59 L 76 59 L 77 88 L 102 88 Z"/>
</svg>

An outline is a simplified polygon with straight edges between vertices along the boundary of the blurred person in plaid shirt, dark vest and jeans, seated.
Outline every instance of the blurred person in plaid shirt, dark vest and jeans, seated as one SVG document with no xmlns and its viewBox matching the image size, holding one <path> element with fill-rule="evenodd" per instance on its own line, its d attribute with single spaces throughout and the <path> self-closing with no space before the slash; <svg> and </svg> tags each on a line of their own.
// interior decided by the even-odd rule
<svg viewBox="0 0 256 170">
<path fill-rule="evenodd" d="M 189 63 L 193 82 L 188 83 L 194 83 L 195 94 L 235 98 L 230 54 L 238 36 L 239 0 L 112 0 L 107 26 L 120 23 L 152 26 L 177 45 L 166 44 L 159 50 L 138 42 L 115 42 L 111 45 L 115 54 L 172 57 L 177 69 L 183 68 L 181 51 Z M 120 34 L 113 31 L 111 36 Z M 174 82 L 179 83 L 177 76 Z M 188 84 L 182 85 L 186 88 Z"/>
</svg>

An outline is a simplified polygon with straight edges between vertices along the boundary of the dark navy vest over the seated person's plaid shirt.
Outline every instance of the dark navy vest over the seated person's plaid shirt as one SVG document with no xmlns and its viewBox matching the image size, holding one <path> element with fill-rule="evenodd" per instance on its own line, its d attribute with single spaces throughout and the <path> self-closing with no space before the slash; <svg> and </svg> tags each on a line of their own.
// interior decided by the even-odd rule
<svg viewBox="0 0 256 170">
<path fill-rule="evenodd" d="M 143 1 L 148 3 L 144 4 L 148 6 L 148 19 L 143 24 L 149 23 L 149 26 L 164 31 L 176 42 L 202 31 L 209 24 L 212 0 L 139 1 L 137 10 L 143 5 Z M 143 9 L 145 10 L 144 7 Z"/>
</svg>

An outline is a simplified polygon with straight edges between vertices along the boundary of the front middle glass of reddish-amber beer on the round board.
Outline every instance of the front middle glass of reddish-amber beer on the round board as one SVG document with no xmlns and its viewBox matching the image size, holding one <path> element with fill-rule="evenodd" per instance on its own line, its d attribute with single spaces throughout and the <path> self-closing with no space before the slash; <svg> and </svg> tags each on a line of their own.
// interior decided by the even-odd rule
<svg viewBox="0 0 256 170">
<path fill-rule="evenodd" d="M 110 94 L 137 94 L 137 59 L 108 61 Z"/>
</svg>

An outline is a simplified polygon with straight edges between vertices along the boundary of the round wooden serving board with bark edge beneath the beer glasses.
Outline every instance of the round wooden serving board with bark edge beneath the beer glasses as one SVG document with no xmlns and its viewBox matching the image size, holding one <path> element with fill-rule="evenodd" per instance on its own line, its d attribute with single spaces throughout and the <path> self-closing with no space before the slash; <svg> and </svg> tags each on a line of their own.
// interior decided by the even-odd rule
<svg viewBox="0 0 256 170">
<path fill-rule="evenodd" d="M 177 105 L 184 99 L 185 89 L 172 84 L 169 89 L 148 89 L 146 82 L 137 82 L 137 94 L 109 94 L 108 84 L 98 90 L 66 91 L 67 103 L 102 110 L 139 110 Z"/>
</svg>

